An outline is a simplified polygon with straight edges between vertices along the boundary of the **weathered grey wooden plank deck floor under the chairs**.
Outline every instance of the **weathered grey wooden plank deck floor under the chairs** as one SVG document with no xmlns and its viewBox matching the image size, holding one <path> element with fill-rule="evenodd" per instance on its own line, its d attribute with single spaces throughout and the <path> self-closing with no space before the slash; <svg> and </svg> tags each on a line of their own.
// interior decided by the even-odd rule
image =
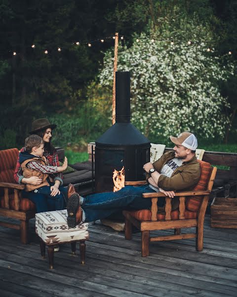
<svg viewBox="0 0 237 297">
<path fill-rule="evenodd" d="M 70 245 L 55 254 L 55 269 L 42 260 L 31 220 L 32 242 L 20 243 L 19 231 L 0 227 L 0 296 L 237 296 L 237 230 L 210 228 L 205 219 L 204 249 L 195 239 L 157 242 L 141 257 L 140 233 L 131 241 L 100 222 L 90 225 L 86 264 L 70 255 Z M 172 232 L 172 231 L 170 231 Z M 159 231 L 167 234 L 167 231 Z M 156 234 L 157 234 L 156 233 Z"/>
</svg>

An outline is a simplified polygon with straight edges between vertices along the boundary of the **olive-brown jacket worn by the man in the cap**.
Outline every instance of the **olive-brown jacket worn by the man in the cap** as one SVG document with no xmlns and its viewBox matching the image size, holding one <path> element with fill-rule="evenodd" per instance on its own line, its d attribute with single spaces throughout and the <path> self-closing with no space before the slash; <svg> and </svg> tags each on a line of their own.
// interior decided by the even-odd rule
<svg viewBox="0 0 237 297">
<path fill-rule="evenodd" d="M 153 163 L 153 167 L 160 172 L 162 167 L 174 158 L 174 150 L 164 153 L 157 161 Z M 151 177 L 149 173 L 146 175 L 148 180 Z M 190 190 L 195 187 L 200 177 L 200 164 L 197 162 L 196 156 L 190 161 L 183 162 L 181 166 L 176 168 L 170 177 L 161 174 L 158 179 L 158 187 L 165 191 Z M 178 203 L 172 199 L 172 209 L 177 208 Z"/>
</svg>

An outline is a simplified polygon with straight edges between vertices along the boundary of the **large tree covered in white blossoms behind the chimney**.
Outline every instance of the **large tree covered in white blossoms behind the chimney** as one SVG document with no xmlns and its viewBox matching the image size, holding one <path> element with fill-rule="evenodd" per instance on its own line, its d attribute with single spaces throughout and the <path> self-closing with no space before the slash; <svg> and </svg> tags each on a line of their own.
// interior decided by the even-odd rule
<svg viewBox="0 0 237 297">
<path fill-rule="evenodd" d="M 190 40 L 199 40 L 200 32 L 205 40 L 211 39 L 207 28 L 192 21 L 181 24 L 178 31 L 178 39 L 187 38 L 186 42 L 175 42 L 175 38 L 173 45 L 158 41 L 174 36 L 171 27 L 163 20 L 159 36 L 141 34 L 132 47 L 118 52 L 118 71 L 131 73 L 132 123 L 156 140 L 180 131 L 192 131 L 201 138 L 223 138 L 229 123 L 223 111 L 229 105 L 219 85 L 232 75 L 234 66 L 223 66 L 213 49 L 207 52 L 204 44 L 187 43 L 187 30 Z M 111 51 L 105 55 L 99 78 L 102 86 L 112 86 Z"/>
</svg>

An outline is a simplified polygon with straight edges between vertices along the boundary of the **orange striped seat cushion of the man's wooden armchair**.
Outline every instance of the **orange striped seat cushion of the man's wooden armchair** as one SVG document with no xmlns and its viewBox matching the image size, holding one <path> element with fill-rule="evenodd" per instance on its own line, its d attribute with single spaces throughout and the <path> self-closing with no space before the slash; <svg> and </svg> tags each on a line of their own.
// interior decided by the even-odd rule
<svg viewBox="0 0 237 297">
<path fill-rule="evenodd" d="M 149 209 L 141 209 L 141 210 L 133 210 L 129 211 L 130 215 L 137 219 L 138 221 L 151 221 L 152 212 Z M 185 210 L 184 216 L 186 219 L 196 219 L 197 212 Z M 157 214 L 158 221 L 164 221 L 164 214 Z M 171 211 L 171 219 L 178 220 L 179 219 L 179 211 L 178 209 Z"/>
</svg>

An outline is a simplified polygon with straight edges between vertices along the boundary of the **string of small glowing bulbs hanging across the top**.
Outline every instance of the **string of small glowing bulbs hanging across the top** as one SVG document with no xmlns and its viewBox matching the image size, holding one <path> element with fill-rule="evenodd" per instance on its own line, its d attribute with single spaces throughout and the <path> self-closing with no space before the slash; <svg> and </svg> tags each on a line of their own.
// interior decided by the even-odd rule
<svg viewBox="0 0 237 297">
<path fill-rule="evenodd" d="M 97 38 L 97 39 L 94 39 L 94 40 L 90 40 L 90 41 L 74 41 L 72 43 L 68 43 L 69 46 L 81 46 L 81 45 L 87 45 L 89 48 L 91 48 L 93 46 L 94 43 L 106 43 L 107 40 L 115 40 L 116 37 L 115 36 L 109 36 L 109 37 L 104 37 L 104 38 Z M 121 42 L 123 43 L 124 42 L 124 39 L 125 37 L 122 35 L 120 36 L 120 40 Z M 192 46 L 192 45 L 197 45 L 197 46 L 200 46 L 202 47 L 203 49 L 205 49 L 207 52 L 213 52 L 214 51 L 214 46 L 210 46 L 210 44 L 215 44 L 215 42 L 213 41 L 208 41 L 208 42 L 203 42 L 203 41 L 193 41 L 193 40 L 175 40 L 175 39 L 155 39 L 155 38 L 136 38 L 135 41 L 137 43 L 139 43 L 141 40 L 146 40 L 146 41 L 150 41 L 151 43 L 155 43 L 155 42 L 168 42 L 170 44 L 170 46 L 174 46 L 174 45 L 177 45 L 177 44 L 181 44 L 181 43 L 185 43 L 187 46 Z M 64 48 L 65 44 L 58 44 L 58 45 L 55 45 L 57 46 L 56 47 L 56 50 L 58 52 L 61 52 L 62 49 Z M 31 46 L 26 46 L 26 48 L 32 48 L 32 49 L 36 49 L 38 48 L 38 46 L 36 44 L 32 44 Z M 41 47 L 41 46 L 40 46 Z M 53 50 L 52 50 L 53 51 Z M 51 52 L 52 52 L 51 51 Z M 16 50 L 9 50 L 9 52 L 12 53 L 12 55 L 16 56 L 17 54 L 19 54 Z M 43 49 L 42 52 L 44 52 L 44 54 L 48 54 L 49 53 L 49 50 L 48 49 Z M 233 54 L 233 51 L 232 50 L 229 50 L 228 51 L 228 55 L 232 55 Z"/>
</svg>

